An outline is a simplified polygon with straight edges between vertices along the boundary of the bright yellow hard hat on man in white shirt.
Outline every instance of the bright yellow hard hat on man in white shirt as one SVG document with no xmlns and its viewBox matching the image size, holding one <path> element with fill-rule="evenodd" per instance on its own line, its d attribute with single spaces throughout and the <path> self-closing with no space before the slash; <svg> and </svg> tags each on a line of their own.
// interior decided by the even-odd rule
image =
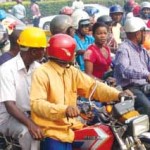
<svg viewBox="0 0 150 150">
<path fill-rule="evenodd" d="M 47 46 L 47 39 L 42 29 L 28 27 L 21 32 L 17 43 L 24 47 L 45 48 Z"/>
</svg>

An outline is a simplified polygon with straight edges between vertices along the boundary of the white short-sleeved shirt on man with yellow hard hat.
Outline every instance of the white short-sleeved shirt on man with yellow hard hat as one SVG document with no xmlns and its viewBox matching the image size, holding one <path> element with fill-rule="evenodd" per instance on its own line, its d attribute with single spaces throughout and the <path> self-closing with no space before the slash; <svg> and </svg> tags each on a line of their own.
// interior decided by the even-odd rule
<svg viewBox="0 0 150 150">
<path fill-rule="evenodd" d="M 3 102 L 14 101 L 22 112 L 30 111 L 31 75 L 38 66 L 33 62 L 27 71 L 19 53 L 0 67 L 0 124 L 9 117 Z"/>
</svg>

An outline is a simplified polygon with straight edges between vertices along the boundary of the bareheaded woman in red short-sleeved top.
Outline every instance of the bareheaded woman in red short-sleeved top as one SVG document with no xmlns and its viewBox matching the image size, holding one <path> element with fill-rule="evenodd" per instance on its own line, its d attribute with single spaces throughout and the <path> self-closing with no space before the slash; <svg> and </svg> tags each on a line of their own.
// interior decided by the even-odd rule
<svg viewBox="0 0 150 150">
<path fill-rule="evenodd" d="M 102 79 L 104 73 L 110 69 L 110 49 L 105 45 L 107 34 L 106 24 L 95 23 L 93 26 L 95 43 L 91 44 L 84 53 L 85 72 L 98 79 Z"/>
</svg>

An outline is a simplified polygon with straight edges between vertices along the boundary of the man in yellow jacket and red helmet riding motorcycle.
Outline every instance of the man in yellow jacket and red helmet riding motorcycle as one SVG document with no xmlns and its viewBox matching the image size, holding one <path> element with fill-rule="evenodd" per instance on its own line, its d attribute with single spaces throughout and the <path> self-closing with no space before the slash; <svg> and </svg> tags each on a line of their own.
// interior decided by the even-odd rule
<svg viewBox="0 0 150 150">
<path fill-rule="evenodd" d="M 30 93 L 32 119 L 46 137 L 41 150 L 71 150 L 74 130 L 83 127 L 75 118 L 80 114 L 77 96 L 88 98 L 96 81 L 70 65 L 75 48 L 72 37 L 65 34 L 52 36 L 47 48 L 50 61 L 33 74 Z M 124 94 L 104 83 L 97 83 L 93 98 L 100 102 L 118 100 Z"/>
</svg>

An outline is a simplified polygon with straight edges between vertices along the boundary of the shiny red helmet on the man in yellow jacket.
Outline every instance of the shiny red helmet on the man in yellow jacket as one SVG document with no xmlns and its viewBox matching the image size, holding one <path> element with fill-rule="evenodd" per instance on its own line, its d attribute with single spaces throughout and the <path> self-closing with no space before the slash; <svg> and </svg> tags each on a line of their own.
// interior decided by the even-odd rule
<svg viewBox="0 0 150 150">
<path fill-rule="evenodd" d="M 69 63 L 73 60 L 75 40 L 67 34 L 56 34 L 49 40 L 47 53 L 51 58 Z"/>
</svg>

